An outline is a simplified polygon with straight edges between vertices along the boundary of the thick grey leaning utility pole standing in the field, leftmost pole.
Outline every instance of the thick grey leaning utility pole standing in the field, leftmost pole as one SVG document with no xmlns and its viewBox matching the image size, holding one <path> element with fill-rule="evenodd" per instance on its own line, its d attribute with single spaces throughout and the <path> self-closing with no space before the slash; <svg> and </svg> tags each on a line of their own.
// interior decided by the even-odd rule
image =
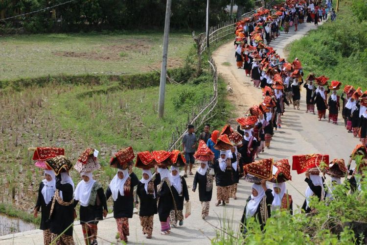
<svg viewBox="0 0 367 245">
<path fill-rule="evenodd" d="M 167 51 L 168 51 L 168 36 L 169 36 L 169 22 L 171 19 L 171 0 L 166 2 L 166 16 L 164 21 L 164 35 L 163 35 L 163 55 L 161 67 L 161 81 L 160 81 L 160 96 L 158 102 L 158 117 L 163 118 L 164 115 L 164 89 L 166 85 L 167 75 Z"/>
</svg>

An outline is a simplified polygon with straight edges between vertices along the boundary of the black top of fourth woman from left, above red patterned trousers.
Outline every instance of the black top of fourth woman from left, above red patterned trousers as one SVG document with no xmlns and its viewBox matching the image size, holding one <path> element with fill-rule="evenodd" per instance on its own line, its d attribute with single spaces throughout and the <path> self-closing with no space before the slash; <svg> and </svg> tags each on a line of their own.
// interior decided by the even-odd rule
<svg viewBox="0 0 367 245">
<path fill-rule="evenodd" d="M 118 192 L 117 199 L 114 200 L 114 218 L 132 218 L 134 211 L 134 186 L 138 185 L 138 177 L 132 172 L 130 174 L 130 192 L 124 193 L 124 196 L 121 196 L 120 192 Z M 110 187 L 108 187 L 106 191 L 106 198 L 110 198 L 112 196 L 112 192 Z"/>
</svg>

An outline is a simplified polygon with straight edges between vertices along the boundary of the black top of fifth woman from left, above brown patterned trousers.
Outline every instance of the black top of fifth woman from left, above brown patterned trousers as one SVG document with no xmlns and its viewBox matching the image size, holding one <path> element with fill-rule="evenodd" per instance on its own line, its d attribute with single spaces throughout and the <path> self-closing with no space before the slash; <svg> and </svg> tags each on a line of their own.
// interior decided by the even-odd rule
<svg viewBox="0 0 367 245">
<path fill-rule="evenodd" d="M 137 187 L 137 195 L 140 199 L 139 216 L 152 216 L 157 214 L 157 185 L 154 185 L 156 197 L 152 194 L 147 194 L 144 186 L 145 184 L 139 181 Z"/>
</svg>

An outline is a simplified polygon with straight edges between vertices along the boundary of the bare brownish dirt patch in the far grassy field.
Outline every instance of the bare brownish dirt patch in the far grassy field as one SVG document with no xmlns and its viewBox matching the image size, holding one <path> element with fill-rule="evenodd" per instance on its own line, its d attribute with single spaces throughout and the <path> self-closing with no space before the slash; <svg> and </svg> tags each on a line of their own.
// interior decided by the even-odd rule
<svg viewBox="0 0 367 245">
<path fill-rule="evenodd" d="M 150 45 L 143 44 L 103 45 L 96 47 L 95 51 L 90 52 L 60 51 L 52 52 L 52 54 L 62 57 L 83 58 L 100 61 L 117 61 L 127 59 L 133 52 L 138 52 L 143 55 L 148 54 L 150 48 Z"/>
</svg>

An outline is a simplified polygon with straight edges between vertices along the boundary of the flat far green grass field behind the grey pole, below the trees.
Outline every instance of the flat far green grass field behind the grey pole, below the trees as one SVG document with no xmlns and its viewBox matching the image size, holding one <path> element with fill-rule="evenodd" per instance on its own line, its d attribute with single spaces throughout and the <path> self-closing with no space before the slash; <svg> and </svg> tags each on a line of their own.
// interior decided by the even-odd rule
<svg viewBox="0 0 367 245">
<path fill-rule="evenodd" d="M 36 34 L 0 39 L 0 80 L 56 74 L 141 73 L 160 70 L 162 32 Z M 183 64 L 190 33 L 171 33 L 168 68 Z"/>
</svg>

